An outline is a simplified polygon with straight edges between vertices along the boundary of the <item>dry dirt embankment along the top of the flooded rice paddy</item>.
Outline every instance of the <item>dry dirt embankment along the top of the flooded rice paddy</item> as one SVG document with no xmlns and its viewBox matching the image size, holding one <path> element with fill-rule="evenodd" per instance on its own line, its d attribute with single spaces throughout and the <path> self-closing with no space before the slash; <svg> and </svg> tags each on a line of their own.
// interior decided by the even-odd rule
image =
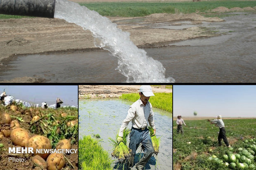
<svg viewBox="0 0 256 170">
<path fill-rule="evenodd" d="M 78 98 L 118 98 L 125 93 L 136 93 L 140 85 L 79 85 Z M 152 86 L 153 92 L 171 93 L 172 89 L 161 89 Z"/>
</svg>

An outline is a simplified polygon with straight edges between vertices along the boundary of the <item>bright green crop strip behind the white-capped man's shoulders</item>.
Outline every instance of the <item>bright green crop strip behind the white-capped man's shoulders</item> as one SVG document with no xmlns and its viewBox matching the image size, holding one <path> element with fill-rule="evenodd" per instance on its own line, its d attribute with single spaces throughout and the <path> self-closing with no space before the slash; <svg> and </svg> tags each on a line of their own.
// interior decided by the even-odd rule
<svg viewBox="0 0 256 170">
<path fill-rule="evenodd" d="M 154 95 L 149 99 L 154 108 L 173 113 L 173 93 L 154 93 Z M 122 94 L 121 99 L 135 102 L 140 99 L 140 95 L 138 93 Z"/>
</svg>

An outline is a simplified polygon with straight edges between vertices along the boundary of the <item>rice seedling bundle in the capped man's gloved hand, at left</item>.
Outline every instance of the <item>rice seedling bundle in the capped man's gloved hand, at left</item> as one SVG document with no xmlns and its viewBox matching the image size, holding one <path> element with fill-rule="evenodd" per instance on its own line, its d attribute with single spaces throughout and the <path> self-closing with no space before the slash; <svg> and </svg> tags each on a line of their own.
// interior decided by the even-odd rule
<svg viewBox="0 0 256 170">
<path fill-rule="evenodd" d="M 116 134 L 116 138 L 112 139 L 109 138 L 111 144 L 113 145 L 114 149 L 111 153 L 111 156 L 118 159 L 119 163 L 125 163 L 130 158 L 132 151 L 131 149 L 126 145 L 127 142 L 127 136 L 129 135 L 130 131 L 128 129 L 124 129 L 123 131 L 123 142 L 118 142 L 118 134 Z"/>
</svg>

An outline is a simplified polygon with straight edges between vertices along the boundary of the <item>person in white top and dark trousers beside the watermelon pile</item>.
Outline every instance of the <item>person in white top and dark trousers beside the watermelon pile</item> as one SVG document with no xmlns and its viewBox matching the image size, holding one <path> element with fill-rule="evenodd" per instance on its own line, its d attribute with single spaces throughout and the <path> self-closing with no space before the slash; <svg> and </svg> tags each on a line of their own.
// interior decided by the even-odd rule
<svg viewBox="0 0 256 170">
<path fill-rule="evenodd" d="M 211 124 L 216 124 L 216 126 L 218 126 L 220 128 L 220 132 L 219 132 L 219 135 L 218 135 L 219 145 L 221 146 L 221 139 L 223 139 L 223 141 L 225 142 L 227 147 L 231 147 L 229 145 L 228 139 L 226 137 L 225 125 L 224 125 L 223 120 L 221 119 L 221 115 L 218 115 L 217 119 L 214 119 L 214 120 L 209 120 L 208 119 L 208 121 L 211 122 Z"/>
</svg>

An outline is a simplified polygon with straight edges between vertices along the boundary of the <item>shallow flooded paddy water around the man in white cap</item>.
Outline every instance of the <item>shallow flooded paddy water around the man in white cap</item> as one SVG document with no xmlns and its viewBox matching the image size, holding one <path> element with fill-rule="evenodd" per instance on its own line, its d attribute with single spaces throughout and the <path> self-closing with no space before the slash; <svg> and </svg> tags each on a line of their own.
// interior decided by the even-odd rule
<svg viewBox="0 0 256 170">
<path fill-rule="evenodd" d="M 100 144 L 111 156 L 113 147 L 108 138 L 115 138 L 131 104 L 132 102 L 121 99 L 80 99 L 79 138 L 99 134 L 102 139 Z M 156 137 L 161 136 L 161 143 L 159 154 L 157 157 L 152 156 L 145 169 L 170 170 L 172 169 L 172 115 L 156 108 L 153 108 L 153 111 Z M 131 122 L 128 128 L 131 128 Z M 136 156 L 139 155 L 137 152 Z M 136 156 L 135 160 L 137 160 Z M 118 161 L 114 158 L 113 160 L 113 168 L 116 169 Z"/>
</svg>

